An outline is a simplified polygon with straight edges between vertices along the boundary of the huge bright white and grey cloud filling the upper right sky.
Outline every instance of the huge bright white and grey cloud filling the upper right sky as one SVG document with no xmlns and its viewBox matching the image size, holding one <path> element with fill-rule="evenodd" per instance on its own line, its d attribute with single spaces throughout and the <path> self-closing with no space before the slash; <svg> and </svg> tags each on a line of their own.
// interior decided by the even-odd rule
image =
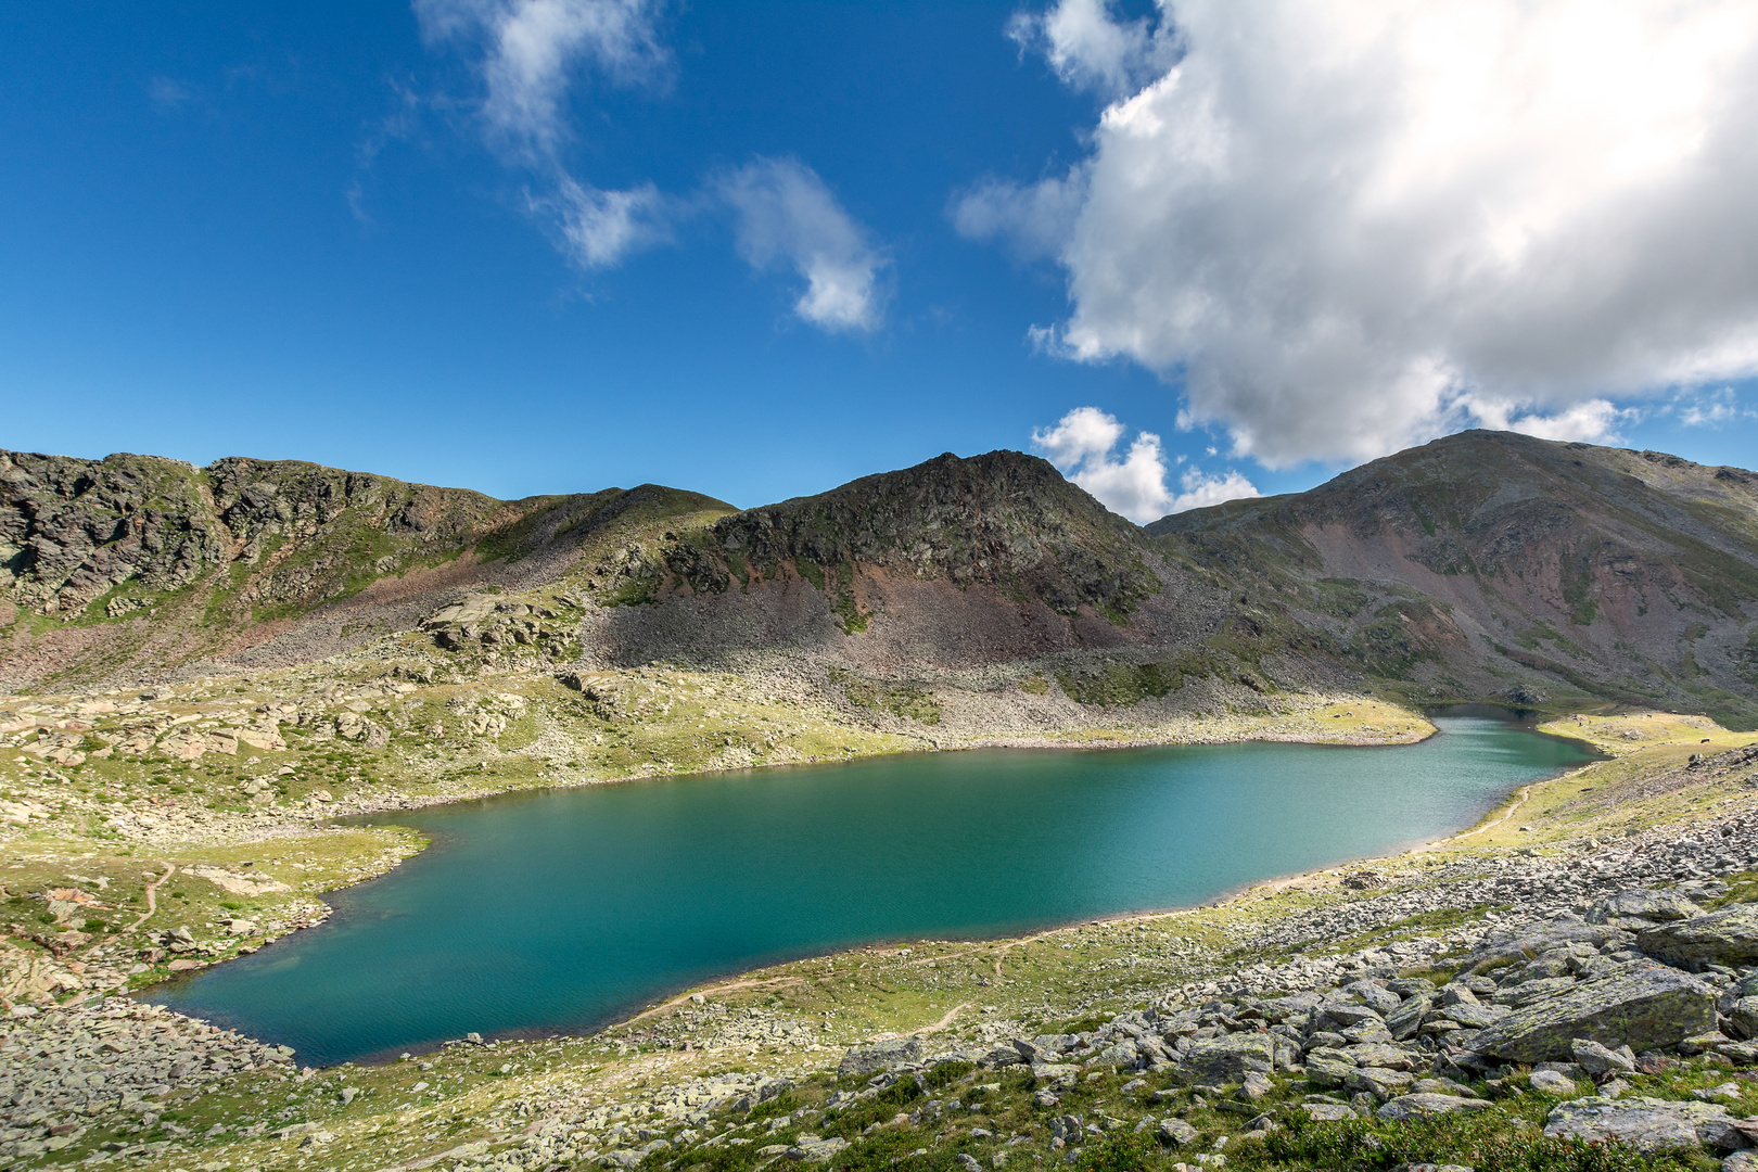
<svg viewBox="0 0 1758 1172">
<path fill-rule="evenodd" d="M 1071 84 L 1132 76 L 1108 61 L 1155 76 L 1053 188 L 984 184 L 953 220 L 1053 250 L 1055 350 L 1160 373 L 1236 455 L 1361 460 L 1468 425 L 1607 438 L 1619 401 L 1758 371 L 1749 0 L 1023 19 L 1011 35 L 1037 30 Z M 1071 192 L 1072 213 L 1034 211 Z"/>
</svg>

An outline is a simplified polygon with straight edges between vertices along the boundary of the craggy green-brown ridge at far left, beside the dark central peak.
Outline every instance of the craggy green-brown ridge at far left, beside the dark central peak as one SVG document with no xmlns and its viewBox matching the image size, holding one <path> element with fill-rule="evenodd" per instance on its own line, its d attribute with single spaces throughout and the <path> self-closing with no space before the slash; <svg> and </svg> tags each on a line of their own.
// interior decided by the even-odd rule
<svg viewBox="0 0 1758 1172">
<path fill-rule="evenodd" d="M 731 511 L 650 485 L 496 501 L 297 460 L 0 452 L 0 684 L 322 657 L 705 506 Z"/>
</svg>

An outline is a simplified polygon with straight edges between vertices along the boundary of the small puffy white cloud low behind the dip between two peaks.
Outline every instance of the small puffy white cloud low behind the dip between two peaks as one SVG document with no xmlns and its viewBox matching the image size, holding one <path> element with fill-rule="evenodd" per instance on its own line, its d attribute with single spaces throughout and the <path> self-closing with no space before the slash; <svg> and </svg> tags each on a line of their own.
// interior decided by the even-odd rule
<svg viewBox="0 0 1758 1172">
<path fill-rule="evenodd" d="M 1032 446 L 1044 453 L 1062 474 L 1093 494 L 1101 504 L 1137 525 L 1167 513 L 1260 496 L 1250 480 L 1236 471 L 1206 474 L 1185 469 L 1183 492 L 1166 487 L 1167 466 L 1160 438 L 1137 432 L 1129 450 L 1116 455 L 1123 425 L 1099 408 L 1074 408 L 1055 427 L 1032 432 Z"/>
</svg>

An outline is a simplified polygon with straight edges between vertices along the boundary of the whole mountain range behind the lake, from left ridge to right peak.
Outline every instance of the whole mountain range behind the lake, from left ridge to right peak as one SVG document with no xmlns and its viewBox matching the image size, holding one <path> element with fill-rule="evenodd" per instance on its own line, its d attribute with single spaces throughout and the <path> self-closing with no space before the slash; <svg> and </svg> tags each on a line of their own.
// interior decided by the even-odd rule
<svg viewBox="0 0 1758 1172">
<path fill-rule="evenodd" d="M 1505 432 L 1146 529 L 1018 452 L 744 511 L 0 453 L 0 599 L 14 689 L 394 638 L 461 673 L 758 657 L 1109 708 L 1368 687 L 1758 726 L 1758 476 Z"/>
</svg>

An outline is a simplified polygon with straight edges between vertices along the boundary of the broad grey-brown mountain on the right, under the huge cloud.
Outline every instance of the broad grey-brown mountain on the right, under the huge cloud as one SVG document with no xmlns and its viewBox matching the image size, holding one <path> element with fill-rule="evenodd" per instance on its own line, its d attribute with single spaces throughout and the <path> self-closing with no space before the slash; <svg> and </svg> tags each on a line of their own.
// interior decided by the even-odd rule
<svg viewBox="0 0 1758 1172">
<path fill-rule="evenodd" d="M 1758 476 L 1742 469 L 1473 430 L 1148 532 L 1413 696 L 1758 719 Z"/>
</svg>

